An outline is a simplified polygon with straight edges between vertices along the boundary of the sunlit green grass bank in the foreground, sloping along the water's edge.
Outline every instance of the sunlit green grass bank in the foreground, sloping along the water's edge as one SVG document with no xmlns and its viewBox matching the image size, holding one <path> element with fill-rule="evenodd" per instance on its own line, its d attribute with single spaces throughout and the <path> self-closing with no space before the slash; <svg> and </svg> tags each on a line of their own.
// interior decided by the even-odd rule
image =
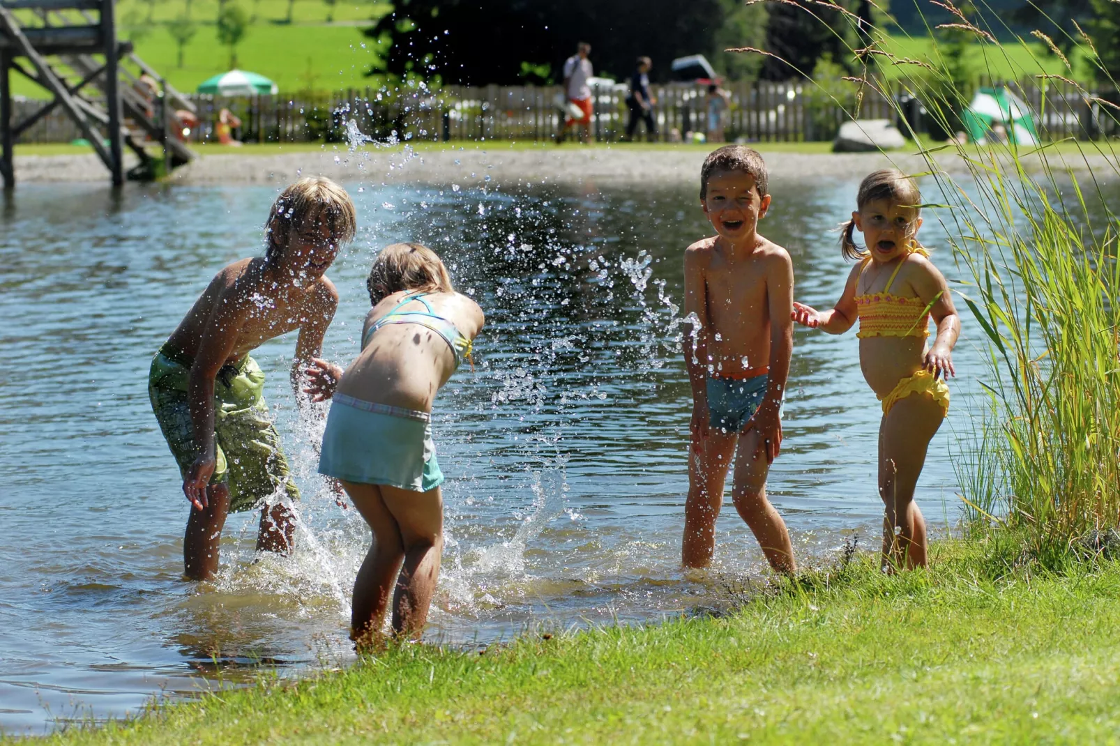
<svg viewBox="0 0 1120 746">
<path fill-rule="evenodd" d="M 930 571 L 871 557 L 720 618 L 408 645 L 296 684 L 208 696 L 65 744 L 1099 743 L 1120 712 L 1120 567 L 1006 572 L 976 544 Z M 984 558 L 989 558 L 986 560 Z"/>
</svg>

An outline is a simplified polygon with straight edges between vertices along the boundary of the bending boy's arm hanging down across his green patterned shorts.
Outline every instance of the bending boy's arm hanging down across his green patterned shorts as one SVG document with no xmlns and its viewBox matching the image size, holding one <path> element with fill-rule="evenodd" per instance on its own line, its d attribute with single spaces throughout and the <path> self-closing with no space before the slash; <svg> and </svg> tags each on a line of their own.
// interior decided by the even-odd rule
<svg viewBox="0 0 1120 746">
<path fill-rule="evenodd" d="M 207 507 L 206 486 L 214 475 L 214 379 L 237 344 L 237 335 L 249 314 L 249 306 L 234 289 L 226 290 L 214 304 L 198 343 L 190 377 L 187 403 L 198 455 L 183 479 L 183 493 L 198 510 Z"/>
</svg>

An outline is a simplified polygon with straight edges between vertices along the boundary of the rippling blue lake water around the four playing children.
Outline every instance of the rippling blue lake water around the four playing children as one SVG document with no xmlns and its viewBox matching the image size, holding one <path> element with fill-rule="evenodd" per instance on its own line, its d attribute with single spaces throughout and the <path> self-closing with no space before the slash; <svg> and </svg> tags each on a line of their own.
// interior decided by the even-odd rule
<svg viewBox="0 0 1120 746">
<path fill-rule="evenodd" d="M 772 168 L 774 166 L 772 165 Z M 763 232 L 790 249 L 800 300 L 848 272 L 831 229 L 858 178 L 775 180 Z M 361 230 L 330 270 L 342 304 L 326 356 L 357 352 L 381 246 L 429 243 L 487 315 L 476 371 L 437 400 L 447 548 L 426 637 L 450 644 L 656 621 L 718 604 L 764 560 L 727 506 L 711 572 L 679 567 L 691 399 L 676 347 L 681 257 L 710 233 L 696 186 L 452 189 L 347 185 Z M 232 516 L 221 577 L 181 578 L 188 505 L 147 395 L 149 361 L 223 264 L 260 253 L 267 187 L 20 185 L 0 212 L 0 728 L 136 711 L 239 670 L 352 660 L 351 584 L 368 543 L 316 475 L 323 422 L 296 416 L 295 335 L 255 354 L 297 479 L 298 550 L 254 562 Z M 935 221 L 926 243 L 942 243 Z M 956 276 L 949 252 L 939 262 Z M 982 370 L 967 311 L 954 408 L 918 486 L 944 531 L 953 455 Z M 799 330 L 769 495 L 802 562 L 851 534 L 878 544 L 879 407 L 855 334 Z M 954 432 L 955 431 L 955 432 Z M 248 675 L 242 673 L 240 675 Z"/>
</svg>

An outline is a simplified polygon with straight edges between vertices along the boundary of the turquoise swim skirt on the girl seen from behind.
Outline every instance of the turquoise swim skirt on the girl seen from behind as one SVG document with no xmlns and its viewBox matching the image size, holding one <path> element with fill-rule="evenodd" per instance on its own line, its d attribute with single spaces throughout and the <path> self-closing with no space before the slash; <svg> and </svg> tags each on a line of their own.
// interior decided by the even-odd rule
<svg viewBox="0 0 1120 746">
<path fill-rule="evenodd" d="M 323 433 L 319 474 L 428 492 L 444 483 L 428 412 L 335 394 Z"/>
</svg>

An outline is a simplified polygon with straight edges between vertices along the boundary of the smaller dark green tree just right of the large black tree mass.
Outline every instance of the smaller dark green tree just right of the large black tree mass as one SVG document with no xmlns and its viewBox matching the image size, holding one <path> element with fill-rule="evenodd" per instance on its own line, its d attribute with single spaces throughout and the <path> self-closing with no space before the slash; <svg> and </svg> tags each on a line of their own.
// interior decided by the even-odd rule
<svg viewBox="0 0 1120 746">
<path fill-rule="evenodd" d="M 855 19 L 818 3 L 796 2 L 802 4 L 792 1 L 771 3 L 766 50 L 781 57 L 781 60 L 766 57 L 762 77 L 785 81 L 800 77 L 799 71 L 811 75 L 816 60 L 824 55 L 831 56 L 846 69 L 853 69 L 856 60 L 851 50 L 862 46 Z M 855 13 L 858 3 L 844 3 L 846 7 L 848 4 L 852 6 L 849 10 Z"/>
</svg>

